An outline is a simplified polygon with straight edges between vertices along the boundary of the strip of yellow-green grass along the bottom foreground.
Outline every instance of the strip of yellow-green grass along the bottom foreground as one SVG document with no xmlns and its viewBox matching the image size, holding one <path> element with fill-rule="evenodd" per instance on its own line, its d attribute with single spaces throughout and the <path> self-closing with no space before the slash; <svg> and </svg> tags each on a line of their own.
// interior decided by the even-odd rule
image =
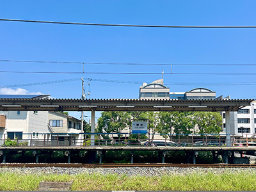
<svg viewBox="0 0 256 192">
<path fill-rule="evenodd" d="M 125 175 L 20 175 L 0 173 L 0 190 L 38 190 L 39 182 L 73 181 L 74 191 L 255 191 L 256 175 L 252 172 L 214 173 L 190 175 L 164 175 L 161 177 L 127 177 Z"/>
</svg>

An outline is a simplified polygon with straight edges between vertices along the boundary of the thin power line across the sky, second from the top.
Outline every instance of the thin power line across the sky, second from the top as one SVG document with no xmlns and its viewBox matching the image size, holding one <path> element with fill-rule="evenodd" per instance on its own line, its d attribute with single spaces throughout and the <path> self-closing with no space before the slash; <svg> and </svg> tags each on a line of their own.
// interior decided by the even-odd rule
<svg viewBox="0 0 256 192">
<path fill-rule="evenodd" d="M 99 62 L 76 62 L 76 61 L 22 61 L 22 60 L 0 60 L 3 62 L 20 62 L 20 63 L 60 63 L 60 64 L 88 64 L 88 65 L 191 65 L 191 66 L 256 66 L 256 64 L 193 64 L 193 63 L 99 63 Z"/>
</svg>

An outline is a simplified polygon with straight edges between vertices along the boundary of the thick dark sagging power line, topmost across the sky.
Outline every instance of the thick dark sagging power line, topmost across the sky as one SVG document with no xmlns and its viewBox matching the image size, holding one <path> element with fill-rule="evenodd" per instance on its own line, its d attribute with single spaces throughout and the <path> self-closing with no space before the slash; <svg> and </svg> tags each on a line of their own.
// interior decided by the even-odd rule
<svg viewBox="0 0 256 192">
<path fill-rule="evenodd" d="M 36 22 L 47 24 L 71 24 L 83 26 L 115 26 L 115 27 L 136 27 L 136 28 L 256 28 L 256 26 L 159 26 L 159 25 L 134 25 L 134 24 L 99 24 L 99 23 L 83 23 L 83 22 L 57 22 L 45 20 L 22 20 L 22 19 L 0 19 L 2 21 L 13 22 Z"/>
</svg>

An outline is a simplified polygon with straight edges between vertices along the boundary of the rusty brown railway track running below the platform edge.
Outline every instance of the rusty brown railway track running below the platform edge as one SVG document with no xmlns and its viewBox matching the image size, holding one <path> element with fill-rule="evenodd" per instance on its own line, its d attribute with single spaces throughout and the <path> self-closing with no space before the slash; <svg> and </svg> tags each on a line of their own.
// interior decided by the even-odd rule
<svg viewBox="0 0 256 192">
<path fill-rule="evenodd" d="M 256 168 L 256 164 L 168 164 L 168 163 L 133 163 L 133 164 L 55 164 L 55 163 L 6 163 L 1 168 L 12 167 L 63 167 L 63 168 L 118 168 L 118 167 L 202 167 L 202 168 Z"/>
</svg>

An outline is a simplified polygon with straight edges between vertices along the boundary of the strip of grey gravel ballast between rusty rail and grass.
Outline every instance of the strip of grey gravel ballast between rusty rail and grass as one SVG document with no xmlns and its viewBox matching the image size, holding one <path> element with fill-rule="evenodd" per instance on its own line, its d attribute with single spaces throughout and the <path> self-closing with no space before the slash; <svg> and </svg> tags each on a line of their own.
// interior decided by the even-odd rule
<svg viewBox="0 0 256 192">
<path fill-rule="evenodd" d="M 0 173 L 19 173 L 19 174 L 37 174 L 37 175 L 77 175 L 93 174 L 101 175 L 117 174 L 127 176 L 161 176 L 161 175 L 189 175 L 193 173 L 241 173 L 250 172 L 256 175 L 256 168 L 139 168 L 139 167 L 122 167 L 122 168 L 60 168 L 60 167 L 38 167 L 38 168 L 0 168 Z"/>
</svg>

